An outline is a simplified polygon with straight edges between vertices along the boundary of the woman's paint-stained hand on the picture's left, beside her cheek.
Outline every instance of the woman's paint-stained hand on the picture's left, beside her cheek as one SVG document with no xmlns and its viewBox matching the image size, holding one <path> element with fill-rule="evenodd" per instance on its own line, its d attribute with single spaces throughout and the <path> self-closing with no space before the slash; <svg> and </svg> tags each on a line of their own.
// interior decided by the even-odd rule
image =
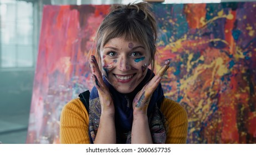
<svg viewBox="0 0 256 155">
<path fill-rule="evenodd" d="M 89 63 L 90 63 L 91 73 L 93 74 L 91 77 L 93 78 L 94 85 L 99 93 L 100 104 L 101 104 L 101 115 L 114 117 L 115 116 L 114 102 L 112 100 L 109 89 L 106 87 L 103 81 L 103 76 L 101 74 L 99 65 L 94 55 L 91 55 Z"/>
</svg>

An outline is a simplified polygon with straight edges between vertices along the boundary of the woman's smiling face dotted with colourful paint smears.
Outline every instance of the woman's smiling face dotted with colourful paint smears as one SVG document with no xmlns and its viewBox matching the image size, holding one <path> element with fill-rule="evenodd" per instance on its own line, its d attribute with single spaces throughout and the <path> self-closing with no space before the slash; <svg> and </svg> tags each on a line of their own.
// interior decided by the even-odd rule
<svg viewBox="0 0 256 155">
<path fill-rule="evenodd" d="M 100 52 L 103 74 L 121 93 L 132 92 L 144 79 L 151 58 L 146 47 L 124 38 L 113 38 Z"/>
</svg>

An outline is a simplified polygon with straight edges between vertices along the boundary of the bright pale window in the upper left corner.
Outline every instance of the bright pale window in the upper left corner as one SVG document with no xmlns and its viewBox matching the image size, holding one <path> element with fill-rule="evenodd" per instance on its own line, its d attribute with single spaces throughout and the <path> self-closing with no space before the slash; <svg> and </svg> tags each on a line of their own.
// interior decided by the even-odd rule
<svg viewBox="0 0 256 155">
<path fill-rule="evenodd" d="M 33 3 L 0 0 L 0 68 L 32 68 Z"/>
</svg>

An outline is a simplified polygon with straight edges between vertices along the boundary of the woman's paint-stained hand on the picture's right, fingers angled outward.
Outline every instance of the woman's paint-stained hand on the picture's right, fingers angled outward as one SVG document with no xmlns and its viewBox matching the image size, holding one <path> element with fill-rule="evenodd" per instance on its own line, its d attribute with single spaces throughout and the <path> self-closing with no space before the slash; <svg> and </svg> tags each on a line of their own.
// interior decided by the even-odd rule
<svg viewBox="0 0 256 155">
<path fill-rule="evenodd" d="M 157 75 L 155 75 L 143 88 L 137 93 L 132 103 L 134 108 L 134 115 L 147 115 L 147 107 L 151 96 L 157 86 L 162 80 L 162 76 L 165 74 L 166 70 L 169 68 L 170 60 L 165 61 L 165 65 L 162 66 Z"/>
</svg>

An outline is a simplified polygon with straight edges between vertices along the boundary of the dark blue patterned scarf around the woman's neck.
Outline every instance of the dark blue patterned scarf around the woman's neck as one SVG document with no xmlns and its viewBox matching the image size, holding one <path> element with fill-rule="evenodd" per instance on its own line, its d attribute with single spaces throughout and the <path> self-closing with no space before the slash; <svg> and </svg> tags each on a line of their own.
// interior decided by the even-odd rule
<svg viewBox="0 0 256 155">
<path fill-rule="evenodd" d="M 129 94 L 121 94 L 116 91 L 114 87 L 104 77 L 103 80 L 112 95 L 112 100 L 115 106 L 115 127 L 116 127 L 116 142 L 117 143 L 131 143 L 131 128 L 133 119 L 132 101 L 136 94 L 155 76 L 153 72 L 148 69 L 147 74 Z M 159 109 L 164 98 L 161 84 L 153 92 L 149 107 L 147 108 L 147 116 L 149 120 L 150 132 L 153 143 L 165 143 L 166 130 L 165 122 L 163 121 L 162 113 Z M 101 105 L 98 90 L 93 87 L 90 93 L 89 100 L 89 137 L 90 143 L 93 143 L 98 131 L 101 115 Z"/>
</svg>

